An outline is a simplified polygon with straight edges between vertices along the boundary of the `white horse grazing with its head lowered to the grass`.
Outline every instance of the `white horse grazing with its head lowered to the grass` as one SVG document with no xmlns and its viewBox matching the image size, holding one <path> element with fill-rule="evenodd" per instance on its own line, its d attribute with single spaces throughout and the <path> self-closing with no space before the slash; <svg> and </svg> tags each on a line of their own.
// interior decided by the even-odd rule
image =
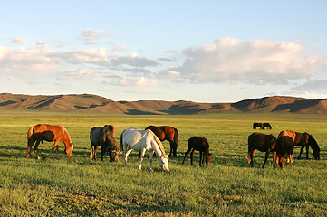
<svg viewBox="0 0 327 217">
<path fill-rule="evenodd" d="M 149 169 L 153 172 L 152 159 L 156 153 L 159 160 L 159 166 L 164 171 L 169 171 L 168 156 L 162 146 L 159 138 L 149 129 L 141 130 L 130 127 L 125 129 L 120 136 L 120 150 L 124 151 L 124 165 L 127 163 L 127 157 L 132 150 L 140 151 L 139 170 L 141 170 L 145 151 L 149 150 Z"/>
</svg>

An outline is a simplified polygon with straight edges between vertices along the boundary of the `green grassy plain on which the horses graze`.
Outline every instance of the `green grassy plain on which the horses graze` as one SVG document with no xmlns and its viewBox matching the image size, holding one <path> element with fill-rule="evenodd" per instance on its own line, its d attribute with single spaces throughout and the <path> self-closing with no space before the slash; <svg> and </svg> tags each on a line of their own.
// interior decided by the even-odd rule
<svg viewBox="0 0 327 217">
<path fill-rule="evenodd" d="M 247 137 L 253 122 L 270 122 L 278 136 L 283 129 L 313 134 L 321 160 L 294 159 L 284 170 L 266 168 L 264 153 L 247 165 Z M 59 159 L 47 158 L 53 143 L 40 145 L 42 159 L 26 159 L 26 133 L 38 123 L 61 124 L 71 134 L 74 156 L 60 145 Z M 149 158 L 138 171 L 139 156 L 129 165 L 90 162 L 91 127 L 112 124 L 120 133 L 128 127 L 170 125 L 179 131 L 178 156 L 169 158 L 169 173 Z M 189 137 L 207 137 L 213 154 L 209 167 L 181 165 Z M 0 115 L 1 216 L 326 216 L 327 118 L 322 115 L 216 114 L 197 116 L 101 116 L 74 113 L 3 112 Z M 168 142 L 163 142 L 166 152 Z M 294 158 L 299 147 L 294 149 Z M 100 152 L 98 153 L 100 156 Z M 100 157 L 98 156 L 98 160 Z"/>
</svg>

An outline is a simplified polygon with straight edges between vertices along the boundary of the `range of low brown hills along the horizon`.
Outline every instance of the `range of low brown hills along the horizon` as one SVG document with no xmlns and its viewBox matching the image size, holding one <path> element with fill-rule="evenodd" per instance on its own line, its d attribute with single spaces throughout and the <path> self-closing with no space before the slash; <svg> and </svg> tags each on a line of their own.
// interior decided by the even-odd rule
<svg viewBox="0 0 327 217">
<path fill-rule="evenodd" d="M 275 96 L 245 99 L 236 103 L 198 103 L 185 100 L 113 101 L 91 94 L 31 96 L 1 93 L 1 109 L 63 110 L 129 115 L 178 115 L 217 112 L 327 113 L 327 99 Z"/>
</svg>

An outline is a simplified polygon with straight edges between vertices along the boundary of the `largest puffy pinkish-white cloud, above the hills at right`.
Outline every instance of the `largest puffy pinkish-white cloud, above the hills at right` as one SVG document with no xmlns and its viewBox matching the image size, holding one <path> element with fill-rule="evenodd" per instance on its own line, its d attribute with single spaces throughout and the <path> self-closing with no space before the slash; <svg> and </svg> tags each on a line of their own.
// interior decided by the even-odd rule
<svg viewBox="0 0 327 217">
<path fill-rule="evenodd" d="M 176 71 L 179 79 L 194 82 L 283 84 L 311 76 L 319 64 L 317 56 L 304 55 L 300 42 L 223 38 L 188 48 L 184 54 L 184 64 L 164 71 L 164 76 Z"/>
</svg>

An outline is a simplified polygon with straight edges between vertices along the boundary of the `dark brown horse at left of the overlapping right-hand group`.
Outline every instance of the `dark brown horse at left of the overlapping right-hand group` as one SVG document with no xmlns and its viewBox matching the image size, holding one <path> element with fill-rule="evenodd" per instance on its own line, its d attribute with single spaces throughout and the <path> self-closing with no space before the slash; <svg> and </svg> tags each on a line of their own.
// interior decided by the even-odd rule
<svg viewBox="0 0 327 217">
<path fill-rule="evenodd" d="M 248 163 L 251 166 L 254 166 L 253 157 L 255 155 L 255 151 L 259 150 L 261 152 L 265 152 L 264 157 L 264 165 L 268 159 L 269 153 L 274 152 L 274 146 L 276 146 L 277 139 L 273 135 L 265 135 L 262 133 L 253 133 L 248 137 Z M 275 160 L 276 153 L 274 152 L 274 168 L 276 167 Z M 264 168 L 263 165 L 263 168 Z"/>
</svg>

